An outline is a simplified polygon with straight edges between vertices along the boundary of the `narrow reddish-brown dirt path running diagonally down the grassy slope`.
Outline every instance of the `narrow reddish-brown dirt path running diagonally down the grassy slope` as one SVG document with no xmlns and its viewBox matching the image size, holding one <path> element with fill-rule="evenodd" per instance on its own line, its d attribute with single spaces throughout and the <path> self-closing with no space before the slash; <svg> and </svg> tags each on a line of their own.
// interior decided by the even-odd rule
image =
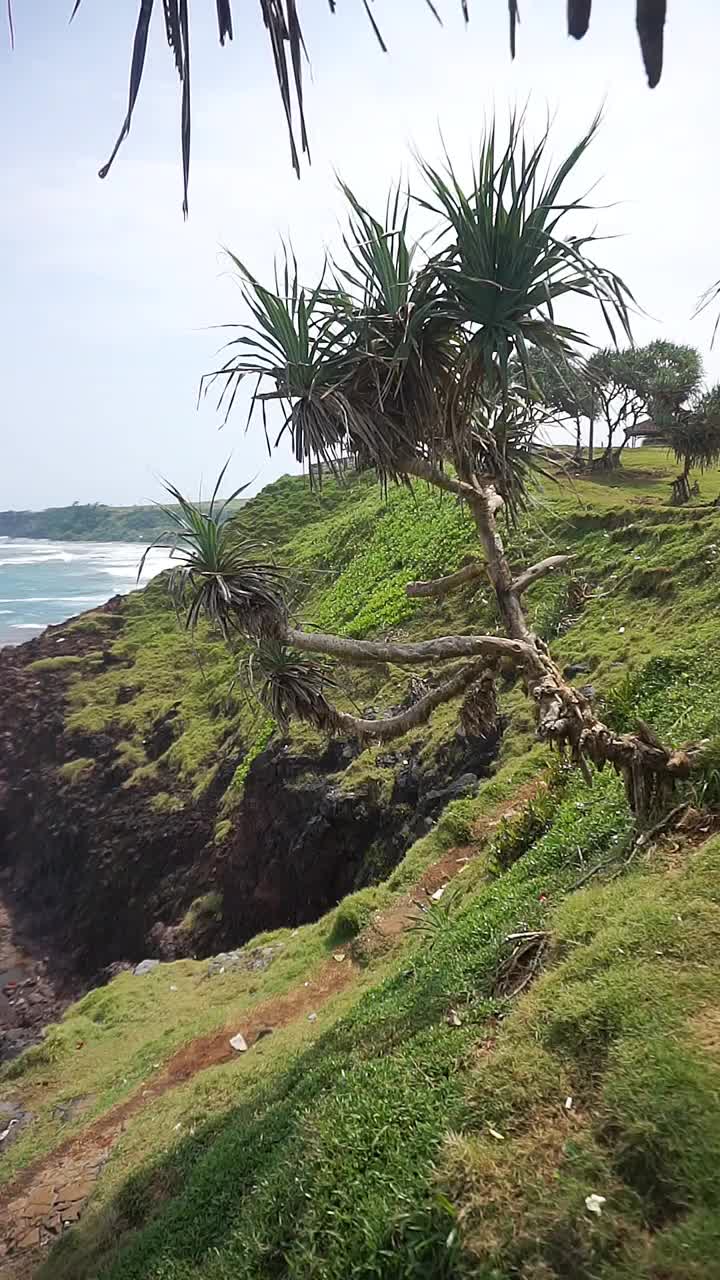
<svg viewBox="0 0 720 1280">
<path fill-rule="evenodd" d="M 519 787 L 511 804 L 483 818 L 474 831 L 474 844 L 448 850 L 425 869 L 419 882 L 397 902 L 375 915 L 372 924 L 355 940 L 354 947 L 364 954 L 389 948 L 421 915 L 432 895 L 459 876 L 483 849 L 498 822 L 520 809 L 537 791 L 537 781 Z M 354 948 L 341 947 L 307 983 L 283 996 L 264 1001 L 222 1029 L 184 1044 L 159 1073 L 158 1078 L 126 1102 L 94 1120 L 81 1134 L 68 1139 L 55 1151 L 24 1169 L 15 1181 L 0 1193 L 0 1276 L 3 1280 L 28 1280 L 40 1266 L 44 1249 L 68 1226 L 76 1222 L 92 1193 L 95 1181 L 114 1143 L 127 1123 L 178 1084 L 193 1075 L 238 1057 L 229 1037 L 242 1033 L 247 1051 L 264 1036 L 287 1027 L 299 1018 L 316 1012 L 322 1006 L 356 980 L 359 968 L 352 960 Z"/>
</svg>

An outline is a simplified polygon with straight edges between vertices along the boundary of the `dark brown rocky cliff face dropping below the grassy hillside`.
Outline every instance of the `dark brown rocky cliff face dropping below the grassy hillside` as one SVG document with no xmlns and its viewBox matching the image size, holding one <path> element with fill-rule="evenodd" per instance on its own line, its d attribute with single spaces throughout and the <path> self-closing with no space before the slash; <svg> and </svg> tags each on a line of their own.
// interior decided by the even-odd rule
<svg viewBox="0 0 720 1280">
<path fill-rule="evenodd" d="M 272 740 L 218 840 L 240 745 L 192 799 L 168 771 L 128 788 L 119 730 L 68 728 L 67 686 L 82 678 L 72 659 L 90 660 L 94 671 L 123 666 L 117 640 L 127 608 L 120 598 L 105 607 L 101 637 L 65 625 L 0 652 L 0 886 L 15 933 L 82 984 L 119 963 L 209 952 L 315 919 L 387 874 L 448 799 L 475 787 L 495 755 L 500 730 L 488 739 L 456 735 L 429 763 L 415 749 L 387 753 L 378 762 L 383 787 L 372 780 L 352 786 L 346 771 L 355 744 L 299 753 Z M 118 700 L 133 696 L 133 672 L 122 675 Z M 147 733 L 149 762 L 163 762 L 177 714 L 170 708 Z M 169 787 L 182 808 L 155 809 L 154 797 Z M 196 913 L 188 927 L 188 909 L 209 893 L 222 905 Z"/>
</svg>

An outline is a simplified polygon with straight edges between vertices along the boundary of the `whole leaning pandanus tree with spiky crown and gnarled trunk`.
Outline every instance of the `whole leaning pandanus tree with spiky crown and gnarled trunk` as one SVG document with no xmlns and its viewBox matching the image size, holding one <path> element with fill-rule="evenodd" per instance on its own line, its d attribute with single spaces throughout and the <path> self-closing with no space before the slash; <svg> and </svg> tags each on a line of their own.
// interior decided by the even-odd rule
<svg viewBox="0 0 720 1280">
<path fill-rule="evenodd" d="M 228 413 L 238 387 L 252 379 L 251 419 L 259 412 L 268 430 L 269 407 L 279 410 L 277 439 L 290 435 L 297 461 L 311 474 L 318 463 L 332 468 L 352 457 L 383 485 L 424 483 L 464 503 L 482 558 L 436 581 L 407 584 L 407 591 L 442 596 L 489 579 L 502 634 L 418 643 L 319 634 L 297 625 L 284 604 L 268 609 L 275 575 L 255 599 L 251 562 L 225 571 L 213 557 L 191 557 L 184 567 L 195 571 L 188 572 L 188 617 L 202 590 L 210 617 L 250 637 L 263 698 L 281 723 L 299 716 L 329 733 L 387 740 L 460 694 L 461 718 L 471 721 L 473 705 L 492 704 L 498 663 L 509 663 L 537 708 L 539 737 L 569 751 L 588 778 L 592 765 L 612 765 L 633 808 L 644 814 L 688 773 L 692 753 L 666 749 L 650 731 L 614 733 L 566 684 L 528 621 L 524 598 L 568 557 L 514 566 L 500 527 L 502 515 L 512 522 L 528 504 L 537 465 L 532 352 L 562 361 L 583 343 L 557 319 L 559 305 L 584 298 L 629 337 L 628 289 L 592 257 L 593 237 L 562 234 L 582 212 L 565 188 L 596 127 L 555 170 L 546 169 L 547 136 L 529 146 L 521 122 L 512 120 L 507 143 L 498 146 L 491 127 L 469 187 L 450 164 L 442 172 L 421 164 L 421 193 L 411 200 L 397 192 L 383 219 L 346 189 L 345 259 L 329 264 L 314 288 L 301 285 L 291 255 L 272 288 L 234 259 L 250 321 L 211 375 L 220 379 Z M 432 223 L 428 250 L 410 239 L 415 210 Z M 222 540 L 229 545 L 232 539 L 232 524 L 223 526 Z M 223 590 L 208 595 L 208 579 L 215 576 Z M 445 673 L 398 714 L 366 719 L 331 701 L 324 666 L 331 659 L 429 663 Z"/>
</svg>

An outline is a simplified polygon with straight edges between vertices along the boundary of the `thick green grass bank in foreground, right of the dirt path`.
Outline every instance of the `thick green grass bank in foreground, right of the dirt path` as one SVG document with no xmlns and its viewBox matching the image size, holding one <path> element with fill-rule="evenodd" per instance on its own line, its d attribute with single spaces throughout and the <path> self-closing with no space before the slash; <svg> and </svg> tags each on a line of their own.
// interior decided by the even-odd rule
<svg viewBox="0 0 720 1280">
<path fill-rule="evenodd" d="M 584 1196 L 600 1190 L 614 1208 L 597 1229 L 588 1220 L 585 1270 L 577 1274 L 589 1276 L 606 1258 L 621 1258 L 660 1194 L 635 1164 L 623 1164 L 630 1137 L 641 1144 L 638 1167 L 650 1156 L 657 1162 L 662 1194 L 715 1196 L 712 1144 L 701 1126 L 688 1126 L 693 1149 L 670 1189 L 664 1179 L 675 1167 L 678 1121 L 656 1129 L 667 1089 L 682 1085 L 693 1098 L 700 1089 L 698 1117 L 712 1101 L 711 1064 L 698 1047 L 696 1080 L 692 1055 L 674 1037 L 714 997 L 720 842 L 682 878 L 642 869 L 632 893 L 619 882 L 566 897 L 580 859 L 612 851 L 626 827 L 612 780 L 593 804 L 570 780 L 551 829 L 511 870 L 468 893 L 432 947 L 409 934 L 387 977 L 375 975 L 337 1016 L 331 1010 L 314 1043 L 295 1043 L 290 1057 L 279 1051 L 268 1074 L 243 1075 L 240 1101 L 228 1105 L 220 1085 L 225 1110 L 131 1175 L 56 1251 L 49 1274 L 81 1280 L 100 1257 L 100 1274 L 113 1280 L 259 1277 L 272 1267 L 337 1280 L 462 1276 L 478 1274 L 478 1260 L 511 1275 L 528 1260 L 552 1266 L 556 1242 L 574 1239 Z M 498 1024 L 495 978 L 503 940 L 519 925 L 544 928 L 551 956 L 546 975 Z M 448 1010 L 459 1011 L 459 1028 L 448 1025 Z M 644 1089 L 638 1120 L 630 1050 L 651 1034 L 657 1071 L 670 1075 L 655 1103 Z M 488 1036 L 493 1051 L 478 1051 Z M 652 1053 L 648 1064 L 655 1070 Z M 562 1117 L 568 1096 L 577 1129 Z M 544 1133 L 543 1108 L 548 1129 L 564 1126 L 561 1140 Z M 502 1133 L 501 1156 L 491 1129 Z M 548 1169 L 560 1170 L 551 1197 L 541 1183 Z M 127 1233 L 120 1242 L 118 1224 Z M 83 1258 L 86 1231 L 92 1248 Z"/>
</svg>

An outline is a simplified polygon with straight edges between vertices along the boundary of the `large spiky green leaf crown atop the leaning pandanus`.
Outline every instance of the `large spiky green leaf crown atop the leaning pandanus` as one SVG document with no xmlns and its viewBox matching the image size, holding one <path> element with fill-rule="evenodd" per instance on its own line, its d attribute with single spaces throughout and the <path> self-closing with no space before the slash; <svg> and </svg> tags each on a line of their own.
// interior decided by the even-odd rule
<svg viewBox="0 0 720 1280">
<path fill-rule="evenodd" d="M 397 188 L 382 219 L 343 187 L 345 255 L 311 291 L 288 252 L 274 289 L 233 257 L 251 320 L 211 375 L 223 379 L 227 411 L 251 376 L 251 416 L 260 410 L 266 429 L 268 399 L 279 401 L 279 435 L 290 431 L 311 468 L 350 454 L 406 479 L 409 460 L 450 460 L 460 475 L 489 475 L 511 506 L 521 502 L 525 479 L 511 454 L 524 457 L 536 430 L 532 353 L 565 361 L 585 342 L 557 305 L 596 303 L 615 340 L 629 338 L 632 301 L 591 256 L 594 236 L 562 234 L 587 210 L 565 187 L 597 120 L 557 169 L 548 169 L 547 132 L 530 147 L 523 129 L 512 116 L 500 146 L 488 127 L 469 187 L 450 163 L 442 173 L 423 163 L 423 193 Z M 432 216 L 432 241 L 410 237 L 414 207 Z"/>
</svg>

